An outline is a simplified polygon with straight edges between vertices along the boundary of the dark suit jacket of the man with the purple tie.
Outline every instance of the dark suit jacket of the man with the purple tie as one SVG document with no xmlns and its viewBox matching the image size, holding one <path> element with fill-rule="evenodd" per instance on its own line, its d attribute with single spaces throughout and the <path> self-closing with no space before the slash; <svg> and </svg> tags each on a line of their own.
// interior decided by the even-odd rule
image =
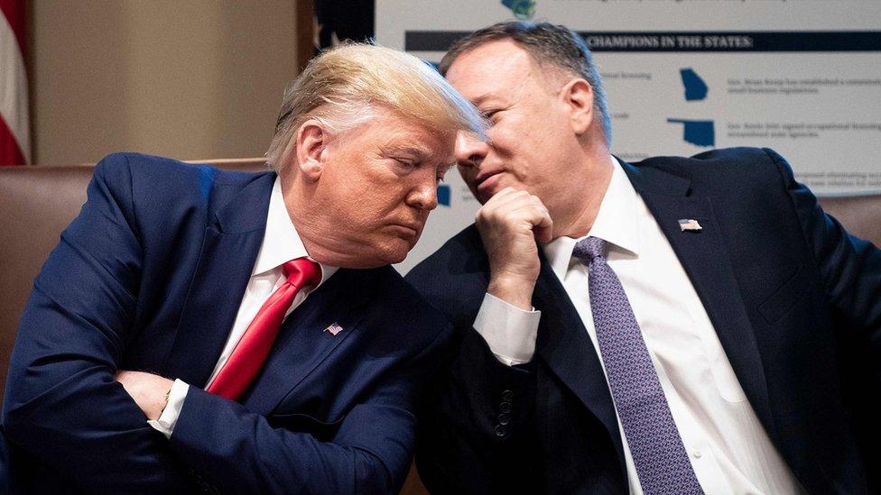
<svg viewBox="0 0 881 495">
<path fill-rule="evenodd" d="M 881 392 L 881 254 L 824 215 L 774 151 L 624 169 L 799 481 L 811 493 L 866 492 L 867 474 L 881 468 L 871 407 Z M 682 232 L 681 218 L 703 229 Z M 407 280 L 448 316 L 459 343 L 420 418 L 416 461 L 430 490 L 626 492 L 602 364 L 546 261 L 533 294 L 535 357 L 513 368 L 471 326 L 488 282 L 473 225 Z"/>
</svg>

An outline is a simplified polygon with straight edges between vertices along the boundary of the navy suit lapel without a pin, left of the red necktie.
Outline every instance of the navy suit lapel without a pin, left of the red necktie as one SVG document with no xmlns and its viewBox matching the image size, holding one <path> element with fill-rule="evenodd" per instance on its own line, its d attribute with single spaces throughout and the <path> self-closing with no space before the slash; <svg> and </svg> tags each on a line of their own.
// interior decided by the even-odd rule
<svg viewBox="0 0 881 495">
<path fill-rule="evenodd" d="M 166 376 L 203 387 L 236 320 L 266 229 L 275 174 L 258 176 L 217 210 L 181 310 Z M 219 185 L 218 188 L 224 186 Z"/>
</svg>

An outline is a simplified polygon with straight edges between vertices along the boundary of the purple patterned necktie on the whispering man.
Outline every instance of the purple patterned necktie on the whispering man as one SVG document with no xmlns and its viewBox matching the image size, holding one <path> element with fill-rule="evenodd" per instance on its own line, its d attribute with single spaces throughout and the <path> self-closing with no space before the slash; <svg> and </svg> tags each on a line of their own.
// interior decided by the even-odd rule
<svg viewBox="0 0 881 495">
<path fill-rule="evenodd" d="M 606 241 L 582 239 L 572 254 L 588 265 L 599 350 L 643 492 L 702 494 L 633 309 L 606 262 Z"/>
</svg>

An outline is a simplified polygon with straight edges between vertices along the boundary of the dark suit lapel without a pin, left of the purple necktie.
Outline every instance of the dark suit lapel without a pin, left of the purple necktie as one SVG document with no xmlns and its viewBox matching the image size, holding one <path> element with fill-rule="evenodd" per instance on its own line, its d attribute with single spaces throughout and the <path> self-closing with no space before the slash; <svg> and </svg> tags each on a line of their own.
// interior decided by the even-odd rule
<svg viewBox="0 0 881 495">
<path fill-rule="evenodd" d="M 544 256 L 533 305 L 542 310 L 535 344 L 538 354 L 606 426 L 624 469 L 624 446 L 606 374 L 578 311 Z"/>
</svg>

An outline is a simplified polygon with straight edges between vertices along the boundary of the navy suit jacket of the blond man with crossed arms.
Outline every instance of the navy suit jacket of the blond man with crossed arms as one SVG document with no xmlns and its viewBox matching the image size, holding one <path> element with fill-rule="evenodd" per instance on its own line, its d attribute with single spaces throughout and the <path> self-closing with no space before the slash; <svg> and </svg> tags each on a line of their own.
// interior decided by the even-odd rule
<svg viewBox="0 0 881 495">
<path fill-rule="evenodd" d="M 338 270 L 240 403 L 203 387 L 264 237 L 275 174 L 116 154 L 25 309 L 4 403 L 15 490 L 393 492 L 449 324 L 390 267 Z M 338 335 L 323 332 L 337 323 Z M 171 440 L 117 370 L 190 383 Z"/>
</svg>

